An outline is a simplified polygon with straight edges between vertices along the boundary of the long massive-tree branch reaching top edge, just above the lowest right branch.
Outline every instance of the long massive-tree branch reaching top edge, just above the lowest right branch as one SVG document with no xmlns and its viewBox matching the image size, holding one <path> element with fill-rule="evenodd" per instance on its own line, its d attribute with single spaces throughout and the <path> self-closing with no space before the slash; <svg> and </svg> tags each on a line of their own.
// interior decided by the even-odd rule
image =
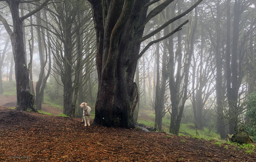
<svg viewBox="0 0 256 162">
<path fill-rule="evenodd" d="M 151 36 L 155 35 L 156 33 L 160 32 L 161 30 L 163 30 L 166 26 L 168 26 L 169 24 L 173 23 L 175 20 L 185 16 L 187 13 L 189 13 L 192 9 L 194 9 L 197 5 L 199 5 L 199 3 L 201 3 L 202 0 L 198 0 L 191 8 L 187 9 L 186 11 L 184 11 L 182 14 L 170 19 L 169 21 L 167 21 L 165 24 L 163 24 L 162 26 L 160 26 L 159 28 L 155 29 L 153 32 L 151 32 L 150 34 L 145 35 L 144 37 L 142 37 L 140 39 L 140 42 L 145 41 L 146 39 L 150 38 Z"/>
</svg>

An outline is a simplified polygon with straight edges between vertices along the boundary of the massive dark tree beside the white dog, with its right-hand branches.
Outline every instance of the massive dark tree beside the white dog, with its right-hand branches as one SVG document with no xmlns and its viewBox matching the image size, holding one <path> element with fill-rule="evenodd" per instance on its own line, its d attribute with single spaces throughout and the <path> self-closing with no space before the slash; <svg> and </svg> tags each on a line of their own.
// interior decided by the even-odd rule
<svg viewBox="0 0 256 162">
<path fill-rule="evenodd" d="M 94 122 L 105 126 L 134 127 L 133 111 L 138 90 L 134 82 L 137 60 L 153 44 L 181 30 L 188 21 L 164 37 L 152 41 L 139 53 L 140 43 L 158 33 L 190 9 L 167 20 L 143 36 L 146 23 L 174 0 L 165 0 L 148 14 L 148 7 L 159 0 L 89 0 L 97 37 L 96 65 L 99 77 Z"/>
</svg>

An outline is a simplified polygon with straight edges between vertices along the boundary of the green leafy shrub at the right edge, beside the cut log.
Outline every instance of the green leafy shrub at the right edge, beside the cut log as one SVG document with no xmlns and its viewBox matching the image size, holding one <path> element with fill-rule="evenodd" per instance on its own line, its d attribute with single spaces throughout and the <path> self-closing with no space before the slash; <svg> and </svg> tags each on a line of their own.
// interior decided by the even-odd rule
<svg viewBox="0 0 256 162">
<path fill-rule="evenodd" d="M 245 130 L 256 140 L 256 93 L 247 96 L 245 105 L 247 107 Z"/>
</svg>

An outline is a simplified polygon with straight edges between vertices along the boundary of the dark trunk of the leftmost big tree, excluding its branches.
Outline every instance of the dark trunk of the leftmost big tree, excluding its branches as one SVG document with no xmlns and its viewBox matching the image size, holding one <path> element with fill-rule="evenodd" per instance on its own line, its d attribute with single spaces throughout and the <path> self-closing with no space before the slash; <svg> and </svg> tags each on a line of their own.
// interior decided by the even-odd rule
<svg viewBox="0 0 256 162">
<path fill-rule="evenodd" d="M 22 21 L 19 18 L 18 3 L 10 1 L 9 7 L 13 20 L 13 36 L 11 37 L 14 62 L 15 77 L 17 87 L 17 105 L 16 110 L 26 111 L 27 108 L 34 110 L 33 94 L 30 94 L 28 69 L 26 64 L 26 55 L 23 43 Z"/>
</svg>

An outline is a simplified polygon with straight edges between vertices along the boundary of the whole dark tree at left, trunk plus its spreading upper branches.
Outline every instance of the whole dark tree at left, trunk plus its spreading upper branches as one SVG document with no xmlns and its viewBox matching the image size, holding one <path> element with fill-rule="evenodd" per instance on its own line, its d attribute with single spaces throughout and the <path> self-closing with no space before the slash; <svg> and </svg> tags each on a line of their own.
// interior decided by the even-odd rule
<svg viewBox="0 0 256 162">
<path fill-rule="evenodd" d="M 38 6 L 33 11 L 27 13 L 23 17 L 19 17 L 19 4 L 26 3 L 27 1 L 24 1 L 24 0 L 0 0 L 0 1 L 7 2 L 11 12 L 11 16 L 12 16 L 13 30 L 11 30 L 8 22 L 1 15 L 0 15 L 0 21 L 3 23 L 5 29 L 9 34 L 11 45 L 12 45 L 13 56 L 14 56 L 15 77 L 16 77 L 16 87 L 17 87 L 16 110 L 26 111 L 27 108 L 30 108 L 36 111 L 33 107 L 33 104 L 34 104 L 33 95 L 30 94 L 30 88 L 29 88 L 28 69 L 27 69 L 27 63 L 26 63 L 27 58 L 24 50 L 24 39 L 23 39 L 24 33 L 22 29 L 22 26 L 23 26 L 22 22 L 26 18 L 32 16 L 37 11 L 42 9 L 49 0 L 45 0 L 40 6 Z"/>
</svg>

